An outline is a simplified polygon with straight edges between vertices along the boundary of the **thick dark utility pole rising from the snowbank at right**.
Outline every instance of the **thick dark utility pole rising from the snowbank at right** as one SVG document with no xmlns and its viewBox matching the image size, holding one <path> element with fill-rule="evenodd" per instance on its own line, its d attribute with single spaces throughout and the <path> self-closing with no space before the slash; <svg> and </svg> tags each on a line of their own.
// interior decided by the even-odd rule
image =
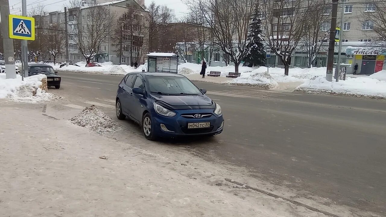
<svg viewBox="0 0 386 217">
<path fill-rule="evenodd" d="M 332 69 L 334 68 L 335 29 L 337 25 L 338 1 L 332 0 L 330 44 L 328 45 L 326 80 L 332 81 Z"/>
</svg>

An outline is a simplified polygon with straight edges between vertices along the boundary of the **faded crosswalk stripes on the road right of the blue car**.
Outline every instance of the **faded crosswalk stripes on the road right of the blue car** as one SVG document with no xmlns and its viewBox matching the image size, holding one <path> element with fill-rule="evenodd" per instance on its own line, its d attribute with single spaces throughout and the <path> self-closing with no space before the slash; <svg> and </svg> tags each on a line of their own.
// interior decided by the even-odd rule
<svg viewBox="0 0 386 217">
<path fill-rule="evenodd" d="M 231 96 L 237 98 L 254 98 L 254 97 L 278 97 L 278 96 L 301 96 L 301 94 L 286 93 L 279 91 L 269 90 L 248 90 L 248 89 L 236 89 L 236 90 L 223 90 L 223 91 L 208 91 L 207 94 L 219 95 L 219 96 Z"/>
</svg>

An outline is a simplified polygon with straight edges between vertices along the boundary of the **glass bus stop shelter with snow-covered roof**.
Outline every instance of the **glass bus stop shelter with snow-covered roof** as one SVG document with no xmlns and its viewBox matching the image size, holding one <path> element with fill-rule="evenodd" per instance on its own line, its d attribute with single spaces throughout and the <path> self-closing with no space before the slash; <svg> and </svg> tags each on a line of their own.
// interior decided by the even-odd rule
<svg viewBox="0 0 386 217">
<path fill-rule="evenodd" d="M 148 72 L 177 73 L 178 56 L 174 53 L 150 53 L 147 56 Z"/>
</svg>

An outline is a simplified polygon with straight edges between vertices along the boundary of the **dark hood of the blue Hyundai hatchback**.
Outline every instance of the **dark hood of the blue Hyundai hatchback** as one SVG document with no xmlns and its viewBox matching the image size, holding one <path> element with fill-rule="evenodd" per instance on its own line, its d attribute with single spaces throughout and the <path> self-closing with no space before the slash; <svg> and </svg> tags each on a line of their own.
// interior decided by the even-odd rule
<svg viewBox="0 0 386 217">
<path fill-rule="evenodd" d="M 164 96 L 152 95 L 157 103 L 171 109 L 214 109 L 215 103 L 206 95 Z"/>
</svg>

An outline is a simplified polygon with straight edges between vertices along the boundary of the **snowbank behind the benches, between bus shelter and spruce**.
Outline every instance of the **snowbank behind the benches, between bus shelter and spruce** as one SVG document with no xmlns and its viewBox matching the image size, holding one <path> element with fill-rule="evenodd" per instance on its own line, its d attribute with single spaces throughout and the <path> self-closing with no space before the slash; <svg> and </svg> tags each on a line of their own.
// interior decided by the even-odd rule
<svg viewBox="0 0 386 217">
<path fill-rule="evenodd" d="M 200 74 L 201 72 L 201 64 L 186 62 L 178 65 L 178 74 L 185 73 L 186 71 L 183 71 L 181 73 L 181 70 L 183 70 L 184 68 L 190 69 L 194 72 L 190 72 L 190 74 Z M 239 66 L 239 72 L 251 72 L 253 70 L 254 68 L 252 67 Z M 209 74 L 210 71 L 221 72 L 220 76 L 225 77 L 228 75 L 228 72 L 235 72 L 235 66 L 208 66 L 206 69 L 206 73 Z"/>
</svg>

